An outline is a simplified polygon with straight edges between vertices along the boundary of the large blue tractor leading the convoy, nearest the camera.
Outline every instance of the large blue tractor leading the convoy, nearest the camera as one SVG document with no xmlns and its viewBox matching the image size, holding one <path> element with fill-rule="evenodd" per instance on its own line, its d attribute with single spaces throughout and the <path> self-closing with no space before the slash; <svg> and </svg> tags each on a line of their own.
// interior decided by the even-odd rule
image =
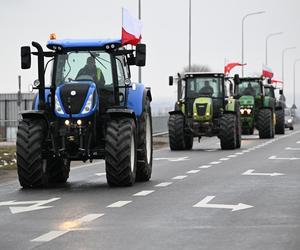
<svg viewBox="0 0 300 250">
<path fill-rule="evenodd" d="M 38 90 L 17 133 L 17 167 L 24 188 L 65 183 L 71 161 L 105 159 L 110 186 L 148 181 L 152 172 L 150 88 L 132 83 L 130 66 L 145 66 L 146 46 L 119 39 L 51 39 L 21 48 L 22 69 L 38 60 Z M 45 64 L 45 60 L 47 63 Z M 50 84 L 45 85 L 47 66 Z"/>
</svg>

